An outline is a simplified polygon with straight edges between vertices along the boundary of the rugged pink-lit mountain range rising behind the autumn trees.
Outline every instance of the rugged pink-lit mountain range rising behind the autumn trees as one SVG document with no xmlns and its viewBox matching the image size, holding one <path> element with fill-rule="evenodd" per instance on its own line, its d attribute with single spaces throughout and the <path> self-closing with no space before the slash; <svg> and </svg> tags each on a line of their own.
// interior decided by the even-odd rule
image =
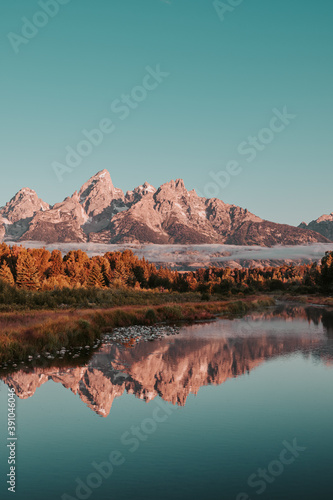
<svg viewBox="0 0 333 500">
<path fill-rule="evenodd" d="M 50 206 L 21 189 L 0 208 L 0 241 L 304 245 L 333 240 L 333 214 L 300 227 L 261 219 L 247 209 L 187 191 L 181 179 L 123 193 L 102 170 Z M 330 219 L 329 219 L 330 218 Z"/>
</svg>

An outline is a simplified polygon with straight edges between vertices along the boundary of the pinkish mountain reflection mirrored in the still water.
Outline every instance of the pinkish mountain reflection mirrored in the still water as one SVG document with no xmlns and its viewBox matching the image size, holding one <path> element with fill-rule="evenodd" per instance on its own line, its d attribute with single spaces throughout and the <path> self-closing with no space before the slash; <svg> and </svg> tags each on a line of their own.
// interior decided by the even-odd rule
<svg viewBox="0 0 333 500">
<path fill-rule="evenodd" d="M 96 414 L 109 415 L 127 391 L 185 405 L 200 387 L 250 373 L 266 360 L 300 352 L 333 366 L 333 312 L 281 305 L 243 319 L 181 329 L 180 334 L 131 348 L 103 344 L 84 366 L 52 365 L 3 374 L 19 398 L 32 397 L 49 380 L 78 394 Z"/>
</svg>

